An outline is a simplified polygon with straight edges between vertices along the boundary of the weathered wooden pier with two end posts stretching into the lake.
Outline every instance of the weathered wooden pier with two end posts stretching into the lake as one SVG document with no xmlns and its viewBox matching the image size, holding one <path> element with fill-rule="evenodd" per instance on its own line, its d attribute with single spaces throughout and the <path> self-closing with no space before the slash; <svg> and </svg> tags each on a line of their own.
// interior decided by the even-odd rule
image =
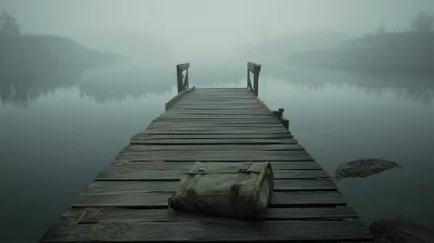
<svg viewBox="0 0 434 243">
<path fill-rule="evenodd" d="M 178 95 L 166 112 L 131 138 L 40 242 L 373 242 L 293 138 L 283 110 L 257 99 L 260 65 L 247 64 L 247 88 L 190 88 L 189 67 L 177 66 Z M 276 186 L 265 220 L 170 214 L 173 188 L 197 161 L 270 162 Z"/>
</svg>

